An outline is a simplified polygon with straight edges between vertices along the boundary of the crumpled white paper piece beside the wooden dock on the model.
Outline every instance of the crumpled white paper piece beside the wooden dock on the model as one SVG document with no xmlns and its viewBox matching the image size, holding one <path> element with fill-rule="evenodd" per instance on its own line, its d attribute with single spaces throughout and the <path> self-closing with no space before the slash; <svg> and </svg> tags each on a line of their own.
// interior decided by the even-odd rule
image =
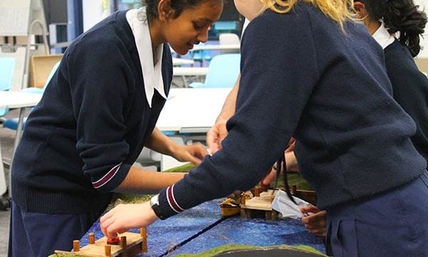
<svg viewBox="0 0 428 257">
<path fill-rule="evenodd" d="M 272 209 L 278 211 L 282 214 L 282 217 L 287 218 L 302 218 L 304 215 L 300 211 L 300 208 L 310 206 L 310 203 L 303 201 L 300 198 L 293 196 L 297 205 L 293 203 L 290 198 L 287 196 L 285 191 L 279 190 L 275 198 L 272 201 Z"/>
</svg>

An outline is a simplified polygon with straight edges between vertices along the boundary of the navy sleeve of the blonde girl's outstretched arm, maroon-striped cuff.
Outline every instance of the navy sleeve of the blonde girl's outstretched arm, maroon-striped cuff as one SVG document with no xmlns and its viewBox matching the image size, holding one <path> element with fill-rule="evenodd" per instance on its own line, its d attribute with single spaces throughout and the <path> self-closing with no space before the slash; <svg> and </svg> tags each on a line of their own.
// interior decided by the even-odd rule
<svg viewBox="0 0 428 257">
<path fill-rule="evenodd" d="M 236 110 L 223 148 L 159 193 L 165 217 L 255 186 L 295 131 L 318 77 L 310 23 L 305 14 L 265 14 L 245 31 Z"/>
</svg>

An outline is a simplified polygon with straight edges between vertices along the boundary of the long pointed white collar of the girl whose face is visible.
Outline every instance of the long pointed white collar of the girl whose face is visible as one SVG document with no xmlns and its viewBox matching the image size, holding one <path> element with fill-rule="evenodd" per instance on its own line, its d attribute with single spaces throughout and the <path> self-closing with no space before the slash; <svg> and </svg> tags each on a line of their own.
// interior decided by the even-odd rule
<svg viewBox="0 0 428 257">
<path fill-rule="evenodd" d="M 131 26 L 138 56 L 140 57 L 141 69 L 143 72 L 144 90 L 148 106 L 151 107 L 154 89 L 166 99 L 165 89 L 162 79 L 162 55 L 163 44 L 158 46 L 156 51 L 152 51 L 151 36 L 148 29 L 146 8 L 132 9 L 126 12 L 126 20 Z M 153 58 L 153 53 L 155 56 Z M 153 64 L 154 60 L 154 64 Z"/>
</svg>

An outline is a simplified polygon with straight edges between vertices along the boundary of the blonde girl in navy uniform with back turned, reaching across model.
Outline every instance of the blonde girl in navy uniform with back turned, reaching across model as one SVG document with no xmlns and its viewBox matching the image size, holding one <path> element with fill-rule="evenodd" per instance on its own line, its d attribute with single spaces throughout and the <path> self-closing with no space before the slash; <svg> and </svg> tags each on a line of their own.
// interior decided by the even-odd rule
<svg viewBox="0 0 428 257">
<path fill-rule="evenodd" d="M 254 0 L 258 1 L 258 0 Z M 247 16 L 248 1 L 235 0 Z M 228 136 L 213 156 L 151 203 L 101 217 L 108 236 L 254 186 L 295 137 L 300 173 L 327 210 L 334 256 L 424 256 L 427 162 L 416 126 L 392 98 L 382 48 L 353 1 L 263 0 L 243 36 Z"/>
</svg>

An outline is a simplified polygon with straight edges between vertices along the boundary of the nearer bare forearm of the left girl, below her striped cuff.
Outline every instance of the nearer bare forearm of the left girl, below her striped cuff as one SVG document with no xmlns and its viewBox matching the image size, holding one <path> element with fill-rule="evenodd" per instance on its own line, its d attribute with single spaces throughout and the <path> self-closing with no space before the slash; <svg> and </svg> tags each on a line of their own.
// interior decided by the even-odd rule
<svg viewBox="0 0 428 257">
<path fill-rule="evenodd" d="M 128 175 L 114 190 L 118 193 L 157 193 L 183 178 L 185 173 L 146 171 L 131 166 Z"/>
</svg>

